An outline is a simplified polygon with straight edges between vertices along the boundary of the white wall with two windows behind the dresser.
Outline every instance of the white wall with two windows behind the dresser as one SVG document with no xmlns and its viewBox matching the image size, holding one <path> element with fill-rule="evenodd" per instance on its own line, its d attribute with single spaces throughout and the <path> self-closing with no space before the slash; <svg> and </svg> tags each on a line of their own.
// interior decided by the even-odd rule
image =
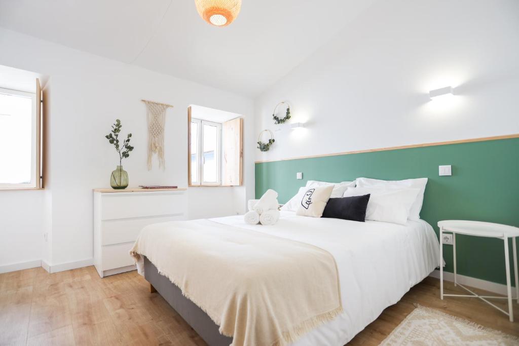
<svg viewBox="0 0 519 346">
<path fill-rule="evenodd" d="M 50 252 L 47 258 L 50 265 L 91 259 L 92 189 L 108 187 L 110 173 L 118 164 L 118 155 L 104 135 L 116 118 L 121 119 L 122 134 L 132 132 L 131 144 L 135 149 L 130 158 L 123 161 L 131 186 L 168 184 L 185 187 L 189 104 L 244 116 L 245 186 L 223 188 L 233 190 L 222 193 L 223 200 L 210 216 L 236 214 L 237 210 L 244 210 L 245 201 L 248 196 L 252 197 L 254 189 L 251 99 L 3 29 L 0 29 L 0 47 L 0 64 L 48 75 L 51 87 L 48 124 L 51 134 L 48 143 L 50 187 L 45 192 L 0 191 L 2 247 L 18 251 L 29 246 L 33 239 L 40 241 L 44 225 L 48 225 L 51 244 L 43 245 L 43 248 L 44 253 Z M 166 119 L 165 171 L 158 169 L 156 159 L 153 170 L 148 172 L 146 169 L 146 109 L 141 99 L 174 105 L 168 110 Z M 202 189 L 189 196 L 189 206 L 195 216 L 203 216 L 197 209 L 199 204 L 203 210 L 211 210 L 214 205 L 212 195 L 212 192 L 205 193 Z M 24 210 L 27 213 L 33 210 L 41 212 L 33 218 L 21 217 Z M 51 215 L 46 215 L 44 210 Z M 38 225 L 42 227 L 38 228 Z M 15 243 L 20 238 L 18 235 L 4 238 L 4 234 L 22 234 L 29 229 L 38 237 L 32 234 L 26 245 Z M 41 248 L 34 246 L 34 249 L 38 249 L 39 256 Z M 0 253 L 3 253 L 2 248 Z M 0 257 L 0 266 L 8 261 L 32 259 L 25 253 L 12 255 L 9 259 Z"/>
</svg>

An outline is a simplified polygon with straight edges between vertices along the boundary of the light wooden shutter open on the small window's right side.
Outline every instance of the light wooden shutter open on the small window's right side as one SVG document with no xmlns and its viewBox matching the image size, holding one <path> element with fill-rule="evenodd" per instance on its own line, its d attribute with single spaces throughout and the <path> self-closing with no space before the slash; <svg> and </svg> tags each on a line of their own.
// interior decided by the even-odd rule
<svg viewBox="0 0 519 346">
<path fill-rule="evenodd" d="M 223 127 L 223 185 L 242 185 L 243 119 L 226 121 Z"/>
</svg>

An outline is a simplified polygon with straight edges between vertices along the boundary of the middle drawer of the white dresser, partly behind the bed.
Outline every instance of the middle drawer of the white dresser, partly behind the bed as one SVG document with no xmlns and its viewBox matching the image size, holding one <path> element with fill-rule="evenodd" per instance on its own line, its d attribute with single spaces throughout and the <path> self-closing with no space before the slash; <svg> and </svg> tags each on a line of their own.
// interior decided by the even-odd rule
<svg viewBox="0 0 519 346">
<path fill-rule="evenodd" d="M 104 220 L 101 222 L 101 245 L 133 242 L 139 236 L 143 227 L 160 222 L 185 219 L 184 215 L 144 217 L 123 220 Z"/>
</svg>

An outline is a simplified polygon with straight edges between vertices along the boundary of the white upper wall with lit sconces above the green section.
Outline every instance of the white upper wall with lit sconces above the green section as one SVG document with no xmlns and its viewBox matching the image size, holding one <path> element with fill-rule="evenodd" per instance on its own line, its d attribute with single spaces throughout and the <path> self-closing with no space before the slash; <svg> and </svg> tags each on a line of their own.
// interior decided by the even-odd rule
<svg viewBox="0 0 519 346">
<path fill-rule="evenodd" d="M 519 133 L 518 91 L 516 0 L 378 1 L 255 100 L 258 132 L 283 100 L 306 122 L 256 159 Z"/>
</svg>

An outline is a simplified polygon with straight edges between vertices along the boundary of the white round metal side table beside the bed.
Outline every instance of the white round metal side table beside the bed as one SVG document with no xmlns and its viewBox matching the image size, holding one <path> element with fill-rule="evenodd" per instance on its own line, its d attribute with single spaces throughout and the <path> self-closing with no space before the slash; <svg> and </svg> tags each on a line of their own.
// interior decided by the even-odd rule
<svg viewBox="0 0 519 346">
<path fill-rule="evenodd" d="M 483 300 L 484 302 L 490 304 L 494 308 L 503 312 L 504 314 L 509 316 L 510 322 L 514 322 L 514 314 L 512 309 L 512 286 L 510 282 L 510 260 L 509 260 L 509 252 L 508 252 L 508 239 L 512 238 L 512 253 L 513 253 L 513 262 L 514 262 L 514 276 L 515 276 L 515 298 L 517 299 L 517 303 L 519 303 L 519 278 L 517 274 L 517 248 L 515 245 L 516 237 L 519 237 L 519 228 L 507 225 L 493 224 L 489 222 L 479 222 L 479 221 L 466 221 L 466 220 L 443 220 L 438 222 L 438 227 L 440 227 L 440 259 L 443 259 L 443 244 L 441 244 L 441 240 L 443 238 L 443 233 L 452 233 L 453 234 L 453 252 L 454 252 L 454 286 L 461 286 L 466 289 L 470 295 L 461 295 L 461 294 L 443 294 L 443 266 L 440 265 L 440 298 L 443 299 L 444 296 L 449 297 L 477 297 Z M 456 279 L 456 233 L 465 234 L 467 236 L 475 236 L 475 237 L 487 237 L 487 238 L 498 238 L 502 239 L 504 243 L 504 267 L 507 274 L 507 297 L 502 296 L 480 296 L 467 287 L 458 283 Z M 497 307 L 486 298 L 498 298 L 498 299 L 508 299 L 508 312 L 503 309 Z"/>
</svg>

